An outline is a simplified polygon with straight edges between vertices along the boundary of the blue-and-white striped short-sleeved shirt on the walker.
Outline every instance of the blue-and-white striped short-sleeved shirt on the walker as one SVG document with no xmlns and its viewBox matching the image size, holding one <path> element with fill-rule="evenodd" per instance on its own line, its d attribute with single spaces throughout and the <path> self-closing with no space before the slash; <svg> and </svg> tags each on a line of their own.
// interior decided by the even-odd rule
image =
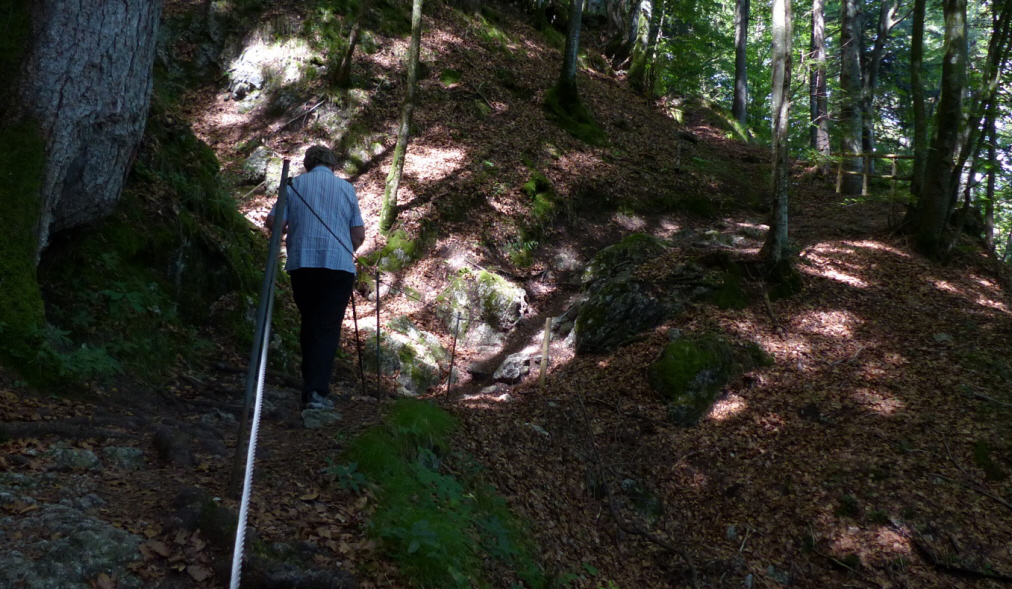
<svg viewBox="0 0 1012 589">
<path fill-rule="evenodd" d="M 330 268 L 354 274 L 350 229 L 364 225 L 354 186 L 335 176 L 327 166 L 296 176 L 291 184 L 284 216 L 288 222 L 288 261 L 284 269 Z"/>
</svg>

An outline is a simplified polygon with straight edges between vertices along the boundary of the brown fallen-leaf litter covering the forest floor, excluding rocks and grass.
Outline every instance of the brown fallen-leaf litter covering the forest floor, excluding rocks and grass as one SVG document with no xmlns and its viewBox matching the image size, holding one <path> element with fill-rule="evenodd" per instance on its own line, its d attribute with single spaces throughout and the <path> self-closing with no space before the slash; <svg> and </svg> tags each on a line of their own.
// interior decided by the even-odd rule
<svg viewBox="0 0 1012 589">
<path fill-rule="evenodd" d="M 458 69 L 466 83 L 446 88 L 434 77 L 423 80 L 416 114 L 423 132 L 407 160 L 402 211 L 409 231 L 435 220 L 438 237 L 430 255 L 396 279 L 429 301 L 456 258 L 510 269 L 530 296 L 530 313 L 497 357 L 533 345 L 544 318 L 578 292 L 572 276 L 552 271 L 549 260 L 561 252 L 586 261 L 632 232 L 690 236 L 682 247 L 691 248 L 707 232 L 742 235 L 762 226 L 764 149 L 726 139 L 711 118 L 691 111 L 677 123 L 668 104 L 635 97 L 621 81 L 595 73 L 583 75 L 581 91 L 610 145 L 589 148 L 547 121 L 539 106 L 558 52 L 532 41 L 535 31 L 521 21 L 506 20 L 502 26 L 519 39 L 507 49 L 524 57 L 503 62 L 510 74 L 494 82 L 496 70 L 474 64 L 501 55 L 449 12 L 440 8 L 431 17 L 423 47 L 436 56 L 433 69 Z M 457 40 L 468 49 L 453 49 Z M 368 58 L 371 75 L 382 75 L 398 51 L 403 47 L 390 44 Z M 504 77 L 516 88 L 506 88 Z M 251 127 L 233 127 L 234 105 L 220 89 L 194 96 L 202 100 L 190 106 L 194 127 L 223 159 L 250 134 L 292 158 L 320 140 L 255 118 Z M 397 96 L 376 98 L 369 124 L 382 130 L 396 120 Z M 492 111 L 475 115 L 479 101 Z M 679 143 L 679 132 L 698 144 Z M 533 265 L 517 269 L 488 244 L 515 239 L 502 233 L 503 220 L 523 215 L 523 157 L 573 204 L 545 233 Z M 498 173 L 483 175 L 485 162 Z M 367 220 L 378 212 L 378 164 L 355 178 Z M 611 354 L 574 355 L 553 344 L 543 390 L 532 374 L 482 394 L 488 383 L 466 377 L 448 395 L 427 397 L 460 420 L 454 448 L 485 468 L 533 532 L 545 567 L 570 574 L 566 586 L 688 587 L 693 573 L 683 555 L 701 587 L 998 587 L 1012 579 L 1007 270 L 969 240 L 945 264 L 926 260 L 891 233 L 889 204 L 845 199 L 800 164 L 794 172 L 790 236 L 802 292 L 770 303 L 761 280 L 750 280 L 756 296 L 745 309 L 692 306 Z M 662 184 L 665 194 L 705 194 L 714 209 L 647 213 L 643 202 Z M 588 198 L 612 204 L 584 214 Z M 240 205 L 259 221 L 266 202 L 256 195 Z M 370 229 L 365 249 L 378 245 Z M 746 237 L 726 249 L 749 259 L 760 245 L 759 237 Z M 384 318 L 408 315 L 449 344 L 426 305 L 395 294 L 383 305 Z M 359 300 L 358 312 L 372 316 L 375 308 Z M 346 327 L 343 346 L 353 359 L 350 318 Z M 672 329 L 754 341 L 774 361 L 727 387 L 698 425 L 678 427 L 646 378 Z M 216 360 L 242 364 L 245 353 L 223 352 Z M 495 359 L 460 353 L 461 366 Z M 180 364 L 154 387 L 95 386 L 85 397 L 39 396 L 0 374 L 0 420 L 34 424 L 39 432 L 0 445 L 0 470 L 50 470 L 40 456 L 61 438 L 75 447 L 142 448 L 148 466 L 141 471 L 73 477 L 105 501 L 98 517 L 149 538 L 138 573 L 153 586 L 227 586 L 212 572 L 220 556 L 204 539 L 169 533 L 160 523 L 187 487 L 236 504 L 226 489 L 236 427 L 220 419 L 220 410 L 234 409 L 243 378 L 214 364 Z M 380 422 L 388 403 L 353 393 L 351 366 L 342 363 L 337 380 L 348 393 L 338 402 L 341 420 L 320 430 L 303 427 L 298 393 L 271 381 L 274 407 L 260 429 L 250 524 L 264 541 L 317 546 L 317 564 L 350 572 L 363 588 L 408 586 L 366 532 L 373 496 L 344 489 L 324 472 L 349 440 Z M 112 419 L 136 415 L 150 424 L 209 424 L 228 451 L 208 444 L 195 450 L 191 466 L 165 465 L 151 428 L 131 430 Z M 75 439 L 74 428 L 102 419 L 109 425 L 101 436 Z M 646 482 L 663 513 L 648 526 L 630 511 L 612 511 L 588 489 L 594 473 L 604 473 L 613 488 Z M 33 491 L 38 501 L 59 501 L 63 493 L 58 483 Z M 0 508 L 13 516 L 30 511 Z M 629 533 L 647 527 L 654 539 Z"/>
</svg>

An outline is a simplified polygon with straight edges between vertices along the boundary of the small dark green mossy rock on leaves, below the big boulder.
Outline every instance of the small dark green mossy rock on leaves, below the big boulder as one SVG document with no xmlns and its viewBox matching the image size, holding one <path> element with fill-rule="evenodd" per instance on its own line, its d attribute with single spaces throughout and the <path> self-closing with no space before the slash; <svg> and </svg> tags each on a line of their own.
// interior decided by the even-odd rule
<svg viewBox="0 0 1012 589">
<path fill-rule="evenodd" d="M 735 345 L 716 335 L 680 338 L 669 343 L 647 370 L 651 388 L 668 400 L 668 413 L 680 425 L 706 414 L 721 390 L 744 370 L 768 362 L 762 349 Z"/>
</svg>

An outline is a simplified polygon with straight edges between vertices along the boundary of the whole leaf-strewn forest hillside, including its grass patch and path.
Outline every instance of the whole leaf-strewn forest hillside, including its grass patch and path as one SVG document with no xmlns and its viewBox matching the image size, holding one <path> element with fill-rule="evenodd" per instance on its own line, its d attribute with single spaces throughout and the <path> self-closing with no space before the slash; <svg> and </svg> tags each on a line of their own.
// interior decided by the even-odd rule
<svg viewBox="0 0 1012 589">
<path fill-rule="evenodd" d="M 170 3 L 167 18 L 199 22 L 194 4 Z M 756 260 L 767 150 L 729 139 L 719 109 L 648 101 L 592 69 L 580 91 L 608 141 L 580 141 L 542 108 L 561 65 L 558 33 L 511 5 L 483 17 L 427 9 L 427 74 L 399 233 L 388 240 L 375 219 L 403 96 L 403 14 L 377 4 L 353 88 L 339 91 L 326 83 L 320 39 L 339 36 L 327 18 L 340 17 L 311 8 L 246 16 L 242 41 L 220 60 L 230 75 L 186 89 L 167 114 L 212 146 L 254 225 L 273 200 L 276 159 L 298 163 L 315 143 L 347 157 L 366 219 L 338 411 L 301 415 L 291 375 L 268 376 L 244 586 L 997 587 L 1012 578 L 1012 303 L 1007 270 L 980 244 L 963 239 L 944 265 L 925 260 L 891 232 L 892 204 L 844 199 L 797 162 L 797 275 L 768 283 Z M 200 54 L 185 34 L 169 47 Z M 257 86 L 253 70 L 273 73 Z M 577 353 L 567 324 L 593 319 L 580 302 L 610 255 L 597 254 L 619 242 L 634 261 L 612 264 L 628 269 L 618 276 L 677 304 L 635 333 L 622 330 L 638 318 L 620 316 L 606 351 Z M 486 275 L 522 287 L 522 305 L 497 326 L 499 339 L 455 339 L 447 292 Z M 236 299 L 221 306 L 244 308 Z M 283 279 L 277 305 L 290 322 Z M 382 362 L 372 355 L 369 365 L 365 352 L 363 381 L 356 331 L 377 315 L 385 333 L 407 318 L 455 352 L 414 393 L 431 406 L 388 397 L 409 393 L 407 364 L 377 384 Z M 542 387 L 545 321 L 560 317 Z M 76 562 L 87 529 L 103 542 L 129 535 L 113 543 L 133 548 L 68 564 L 81 587 L 228 585 L 237 503 L 227 487 L 244 385 L 235 372 L 248 350 L 234 346 L 233 328 L 216 327 L 217 347 L 180 356 L 154 385 L 124 377 L 48 396 L 0 374 L 9 438 L 0 439 L 0 544 L 13 546 L 0 548 L 0 580 L 46 586 L 59 567 L 45 563 Z M 298 353 L 286 341 L 271 354 Z M 730 358 L 720 369 L 682 369 L 716 349 L 730 350 L 711 354 Z M 526 355 L 529 373 L 497 377 L 514 354 Z M 675 357 L 668 372 L 666 357 Z M 714 385 L 712 406 L 689 419 L 658 392 L 685 374 Z"/>
</svg>

